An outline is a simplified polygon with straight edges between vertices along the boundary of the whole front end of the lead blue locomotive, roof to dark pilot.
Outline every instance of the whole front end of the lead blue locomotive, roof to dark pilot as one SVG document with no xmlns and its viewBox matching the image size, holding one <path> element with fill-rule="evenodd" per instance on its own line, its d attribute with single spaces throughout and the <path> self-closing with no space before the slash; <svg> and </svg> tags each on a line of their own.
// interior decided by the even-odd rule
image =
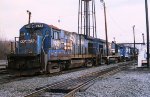
<svg viewBox="0 0 150 97">
<path fill-rule="evenodd" d="M 44 56 L 47 48 L 43 46 L 49 46 L 49 44 L 44 44 L 50 31 L 43 28 L 44 24 L 31 23 L 20 29 L 18 39 L 15 38 L 15 51 L 7 56 L 8 70 L 19 70 L 20 72 L 44 70 L 44 59 L 42 56 Z"/>
</svg>

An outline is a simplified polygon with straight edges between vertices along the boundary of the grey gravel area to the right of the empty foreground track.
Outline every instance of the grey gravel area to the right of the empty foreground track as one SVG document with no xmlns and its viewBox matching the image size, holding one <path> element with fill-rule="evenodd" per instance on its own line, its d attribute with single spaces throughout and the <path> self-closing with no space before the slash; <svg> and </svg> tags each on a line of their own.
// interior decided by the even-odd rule
<svg viewBox="0 0 150 97">
<path fill-rule="evenodd" d="M 132 68 L 99 79 L 76 97 L 150 97 L 150 70 Z"/>
</svg>

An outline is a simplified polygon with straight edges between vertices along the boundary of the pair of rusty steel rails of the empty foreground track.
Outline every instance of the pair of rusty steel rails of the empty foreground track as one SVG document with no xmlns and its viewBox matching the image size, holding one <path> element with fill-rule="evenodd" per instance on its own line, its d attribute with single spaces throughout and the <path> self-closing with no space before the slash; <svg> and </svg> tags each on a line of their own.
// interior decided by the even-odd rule
<svg viewBox="0 0 150 97">
<path fill-rule="evenodd" d="M 124 64 L 125 64 L 125 63 L 124 63 Z M 122 65 L 122 64 L 119 64 L 119 65 Z M 115 69 L 114 69 L 114 68 L 115 68 Z M 102 75 L 108 73 L 108 71 L 111 72 L 112 69 L 113 69 L 113 70 L 116 70 L 116 69 L 118 69 L 118 68 L 119 68 L 119 66 L 114 66 L 114 67 L 110 67 L 110 68 L 103 69 L 103 70 L 101 70 L 101 71 L 96 71 L 96 72 L 92 72 L 92 73 L 89 73 L 89 74 L 85 74 L 85 75 L 80 76 L 80 77 L 77 77 L 77 78 L 69 78 L 69 79 L 67 79 L 67 80 L 63 80 L 63 81 L 60 81 L 60 82 L 55 82 L 55 83 L 53 83 L 53 84 L 46 85 L 46 87 L 44 86 L 43 88 L 41 88 L 41 89 L 39 89 L 39 90 L 37 90 L 37 91 L 34 91 L 34 92 L 32 92 L 32 93 L 30 93 L 30 94 L 28 94 L 28 95 L 25 95 L 24 97 L 37 97 L 38 95 L 44 93 L 47 89 L 50 89 L 50 88 L 52 88 L 52 87 L 56 87 L 57 85 L 61 85 L 61 84 L 63 84 L 63 83 L 66 83 L 67 81 L 72 81 L 72 80 L 75 80 L 75 79 L 78 79 L 78 78 L 86 78 L 86 77 L 90 77 L 90 76 L 92 76 L 92 75 L 99 75 L 99 74 L 101 75 L 101 76 L 98 76 L 98 77 L 96 77 L 96 78 L 94 78 L 94 79 L 91 79 L 91 80 L 88 80 L 88 81 L 86 81 L 86 82 L 83 82 L 83 84 L 80 84 L 77 88 L 73 89 L 71 92 L 69 92 L 69 93 L 67 93 L 67 94 L 65 95 L 65 97 L 72 97 L 72 95 L 74 95 L 74 93 L 75 93 L 76 91 L 80 90 L 81 87 L 84 87 L 84 86 L 88 85 L 89 83 L 92 83 L 92 81 L 94 82 L 96 79 L 102 77 Z M 104 74 L 101 74 L 101 73 L 104 73 Z"/>
</svg>

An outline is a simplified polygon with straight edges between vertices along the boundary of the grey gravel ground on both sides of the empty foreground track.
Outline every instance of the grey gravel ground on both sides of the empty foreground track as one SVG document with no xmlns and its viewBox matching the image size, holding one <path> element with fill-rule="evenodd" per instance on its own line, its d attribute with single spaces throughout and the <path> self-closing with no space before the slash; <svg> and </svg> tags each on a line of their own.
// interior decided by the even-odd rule
<svg viewBox="0 0 150 97">
<path fill-rule="evenodd" d="M 76 78 L 90 72 L 109 68 L 113 65 L 88 68 L 86 70 L 61 74 L 57 76 L 35 76 L 0 85 L 0 97 L 23 97 L 37 88 Z M 63 97 L 58 93 L 52 97 Z M 114 75 L 99 78 L 90 87 L 75 94 L 75 97 L 150 97 L 150 69 L 137 68 L 135 65 Z"/>
</svg>

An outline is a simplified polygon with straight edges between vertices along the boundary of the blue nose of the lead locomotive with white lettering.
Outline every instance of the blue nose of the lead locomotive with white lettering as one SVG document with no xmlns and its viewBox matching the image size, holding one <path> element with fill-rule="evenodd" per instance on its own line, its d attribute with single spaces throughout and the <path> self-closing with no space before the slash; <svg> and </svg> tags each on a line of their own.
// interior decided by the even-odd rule
<svg viewBox="0 0 150 97">
<path fill-rule="evenodd" d="M 25 32 L 20 32 L 19 52 L 22 54 L 37 54 L 39 36 L 42 36 L 40 29 L 27 29 Z"/>
</svg>

